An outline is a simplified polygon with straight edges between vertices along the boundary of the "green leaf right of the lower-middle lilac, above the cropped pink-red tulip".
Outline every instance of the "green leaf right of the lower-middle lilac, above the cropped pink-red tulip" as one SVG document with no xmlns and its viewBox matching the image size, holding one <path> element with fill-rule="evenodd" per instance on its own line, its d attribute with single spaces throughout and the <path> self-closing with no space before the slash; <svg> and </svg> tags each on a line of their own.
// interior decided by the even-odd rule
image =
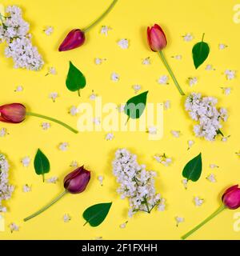
<svg viewBox="0 0 240 256">
<path fill-rule="evenodd" d="M 182 170 L 182 176 L 188 181 L 197 182 L 202 173 L 202 154 L 190 160 Z"/>
</svg>

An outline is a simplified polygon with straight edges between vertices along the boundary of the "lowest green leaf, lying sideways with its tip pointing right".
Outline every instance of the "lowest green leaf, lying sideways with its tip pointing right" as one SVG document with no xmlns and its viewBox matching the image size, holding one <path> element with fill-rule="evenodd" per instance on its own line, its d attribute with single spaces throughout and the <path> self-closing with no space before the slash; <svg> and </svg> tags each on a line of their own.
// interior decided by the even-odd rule
<svg viewBox="0 0 240 256">
<path fill-rule="evenodd" d="M 90 223 L 90 226 L 98 226 L 105 220 L 111 206 L 112 202 L 98 203 L 87 208 L 82 216 L 86 220 L 86 223 Z"/>
</svg>

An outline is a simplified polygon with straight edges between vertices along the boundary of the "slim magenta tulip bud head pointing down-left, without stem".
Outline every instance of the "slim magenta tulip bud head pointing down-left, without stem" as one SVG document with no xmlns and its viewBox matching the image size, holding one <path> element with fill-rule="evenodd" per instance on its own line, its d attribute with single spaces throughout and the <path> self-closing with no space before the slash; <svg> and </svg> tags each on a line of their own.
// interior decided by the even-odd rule
<svg viewBox="0 0 240 256">
<path fill-rule="evenodd" d="M 63 40 L 61 46 L 59 46 L 58 51 L 75 49 L 79 46 L 82 46 L 84 42 L 85 34 L 82 30 L 71 30 Z"/>
</svg>

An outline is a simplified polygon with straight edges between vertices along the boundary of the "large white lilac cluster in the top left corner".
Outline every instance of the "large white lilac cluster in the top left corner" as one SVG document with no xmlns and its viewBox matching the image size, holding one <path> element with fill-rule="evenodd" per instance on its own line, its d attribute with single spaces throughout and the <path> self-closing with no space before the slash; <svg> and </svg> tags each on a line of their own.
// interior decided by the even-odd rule
<svg viewBox="0 0 240 256">
<path fill-rule="evenodd" d="M 8 6 L 6 17 L 0 25 L 0 42 L 6 42 L 5 54 L 13 58 L 14 68 L 40 70 L 44 64 L 37 47 L 32 45 L 30 26 L 22 19 L 22 10 L 18 6 Z"/>
</svg>

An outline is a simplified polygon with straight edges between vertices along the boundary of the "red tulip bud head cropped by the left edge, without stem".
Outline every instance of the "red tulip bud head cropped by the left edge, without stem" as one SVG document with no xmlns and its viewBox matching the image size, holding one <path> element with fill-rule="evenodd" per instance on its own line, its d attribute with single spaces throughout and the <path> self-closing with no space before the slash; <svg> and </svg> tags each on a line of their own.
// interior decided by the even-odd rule
<svg viewBox="0 0 240 256">
<path fill-rule="evenodd" d="M 0 121 L 18 123 L 26 117 L 26 107 L 20 103 L 12 103 L 0 106 Z"/>
</svg>

